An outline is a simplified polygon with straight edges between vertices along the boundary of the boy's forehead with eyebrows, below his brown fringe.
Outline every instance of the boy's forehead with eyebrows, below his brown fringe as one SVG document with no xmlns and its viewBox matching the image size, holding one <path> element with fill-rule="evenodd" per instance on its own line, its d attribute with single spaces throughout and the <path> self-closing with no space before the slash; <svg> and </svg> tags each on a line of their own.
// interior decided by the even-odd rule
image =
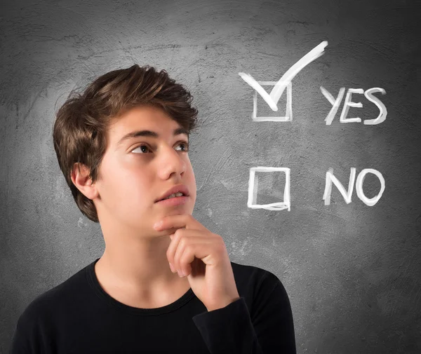
<svg viewBox="0 0 421 354">
<path fill-rule="evenodd" d="M 135 107 L 116 118 L 107 132 L 115 147 L 135 137 L 173 137 L 188 132 L 174 121 L 163 109 L 158 107 Z"/>
</svg>

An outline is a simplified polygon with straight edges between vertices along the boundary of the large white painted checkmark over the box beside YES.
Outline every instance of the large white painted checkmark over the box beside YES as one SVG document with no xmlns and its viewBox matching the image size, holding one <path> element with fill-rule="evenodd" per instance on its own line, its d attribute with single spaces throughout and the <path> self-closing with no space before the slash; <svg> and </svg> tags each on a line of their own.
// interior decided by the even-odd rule
<svg viewBox="0 0 421 354">
<path fill-rule="evenodd" d="M 264 88 L 262 88 L 262 86 L 260 86 L 258 81 L 253 79 L 250 74 L 239 72 L 239 76 L 241 76 L 241 78 L 243 78 L 243 80 L 246 81 L 246 83 L 248 83 L 252 88 L 258 91 L 258 93 L 260 93 L 266 103 L 269 104 L 269 107 L 272 108 L 272 111 L 277 111 L 279 98 L 281 98 L 283 90 L 285 90 L 286 86 L 288 86 L 288 83 L 294 79 L 295 75 L 297 75 L 303 67 L 305 67 L 313 60 L 316 60 L 318 57 L 321 57 L 321 55 L 324 54 L 324 48 L 327 45 L 328 41 L 321 42 L 319 46 L 316 46 L 310 50 L 309 53 L 298 60 L 298 62 L 293 64 L 293 66 L 282 75 L 281 79 L 279 79 L 279 81 L 275 84 L 274 88 L 272 88 L 270 95 L 265 91 Z"/>
</svg>

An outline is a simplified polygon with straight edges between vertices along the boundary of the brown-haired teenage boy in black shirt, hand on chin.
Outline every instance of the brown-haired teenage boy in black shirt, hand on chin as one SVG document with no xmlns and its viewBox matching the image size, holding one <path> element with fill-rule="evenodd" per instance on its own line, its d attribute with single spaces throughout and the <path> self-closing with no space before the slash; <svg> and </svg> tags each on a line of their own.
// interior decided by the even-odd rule
<svg viewBox="0 0 421 354">
<path fill-rule="evenodd" d="M 230 261 L 192 217 L 191 101 L 165 70 L 135 64 L 60 107 L 58 163 L 105 251 L 25 308 L 11 354 L 296 353 L 281 281 Z"/>
</svg>

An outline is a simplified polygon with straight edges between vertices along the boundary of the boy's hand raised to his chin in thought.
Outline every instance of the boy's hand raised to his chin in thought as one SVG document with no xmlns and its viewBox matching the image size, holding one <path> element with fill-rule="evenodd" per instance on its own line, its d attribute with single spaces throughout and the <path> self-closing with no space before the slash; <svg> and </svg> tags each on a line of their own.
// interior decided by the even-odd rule
<svg viewBox="0 0 421 354">
<path fill-rule="evenodd" d="M 155 224 L 156 225 L 156 224 Z M 187 275 L 190 287 L 208 311 L 225 307 L 240 298 L 221 236 L 211 233 L 192 215 L 169 215 L 156 231 L 176 229 L 166 252 L 174 271 Z"/>
</svg>

